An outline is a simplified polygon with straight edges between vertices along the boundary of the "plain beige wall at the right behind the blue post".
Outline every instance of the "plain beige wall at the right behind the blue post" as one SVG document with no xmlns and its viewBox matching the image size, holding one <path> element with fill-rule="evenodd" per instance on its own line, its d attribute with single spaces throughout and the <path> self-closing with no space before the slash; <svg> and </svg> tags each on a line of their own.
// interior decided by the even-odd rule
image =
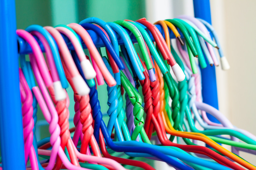
<svg viewBox="0 0 256 170">
<path fill-rule="evenodd" d="M 233 125 L 256 134 L 255 45 L 256 1 L 212 0 L 212 24 L 217 30 L 230 70 L 217 68 L 219 106 Z M 256 156 L 240 152 L 255 164 Z"/>
</svg>

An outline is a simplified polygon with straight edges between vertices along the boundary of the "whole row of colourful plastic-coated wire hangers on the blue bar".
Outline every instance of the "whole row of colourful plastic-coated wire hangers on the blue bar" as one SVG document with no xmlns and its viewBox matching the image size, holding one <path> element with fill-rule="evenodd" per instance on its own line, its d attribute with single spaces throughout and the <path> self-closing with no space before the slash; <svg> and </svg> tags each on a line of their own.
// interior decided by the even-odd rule
<svg viewBox="0 0 256 170">
<path fill-rule="evenodd" d="M 125 165 L 154 169 L 132 157 L 164 161 L 176 169 L 256 169 L 239 156 L 239 151 L 255 154 L 256 137 L 234 127 L 219 110 L 202 102 L 199 67 L 220 64 L 222 70 L 229 69 L 213 27 L 185 15 L 155 24 L 161 25 L 163 35 L 145 18 L 104 22 L 92 17 L 79 24 L 30 25 L 16 31 L 18 42 L 26 42 L 32 50 L 29 61 L 20 55 L 19 70 L 26 164 L 30 161 L 27 169 L 122 170 Z M 102 40 L 107 56 L 87 30 Z M 170 41 L 171 32 L 176 43 Z M 133 46 L 132 35 L 138 48 Z M 119 46 L 117 37 L 123 45 Z M 98 86 L 107 84 L 106 124 L 96 82 Z M 75 101 L 75 128 L 71 129 L 71 96 L 65 90 L 69 85 Z M 40 141 L 35 136 L 37 104 L 51 134 Z M 210 121 L 206 112 L 220 123 Z M 218 143 L 232 146 L 231 151 Z M 114 152 L 124 152 L 130 159 L 111 155 Z"/>
</svg>

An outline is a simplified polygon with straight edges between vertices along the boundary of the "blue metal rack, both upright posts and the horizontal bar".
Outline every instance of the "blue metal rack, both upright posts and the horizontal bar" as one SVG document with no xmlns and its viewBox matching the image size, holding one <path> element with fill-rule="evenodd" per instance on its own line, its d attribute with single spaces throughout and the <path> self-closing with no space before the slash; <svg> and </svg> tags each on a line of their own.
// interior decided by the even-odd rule
<svg viewBox="0 0 256 170">
<path fill-rule="evenodd" d="M 209 0 L 194 0 L 194 12 L 195 17 L 211 23 Z M 25 170 L 15 0 L 1 1 L 0 23 L 0 137 L 2 165 L 4 170 Z M 163 34 L 162 28 L 160 26 L 157 27 Z M 98 47 L 103 46 L 103 43 L 93 31 L 88 32 Z M 154 40 L 152 35 L 149 35 Z M 172 32 L 170 32 L 170 36 L 174 38 Z M 136 42 L 134 37 L 131 36 L 131 39 Z M 19 42 L 21 41 L 23 40 L 19 39 Z M 122 44 L 120 39 L 119 43 Z M 72 49 L 72 46 L 69 45 L 69 48 Z M 86 47 L 84 46 L 84 48 Z M 20 46 L 20 53 L 30 52 L 31 49 L 26 43 Z M 215 67 L 201 69 L 201 73 L 204 102 L 218 109 Z M 15 163 L 13 162 L 14 155 L 19 155 L 19 159 L 15 159 Z"/>
</svg>

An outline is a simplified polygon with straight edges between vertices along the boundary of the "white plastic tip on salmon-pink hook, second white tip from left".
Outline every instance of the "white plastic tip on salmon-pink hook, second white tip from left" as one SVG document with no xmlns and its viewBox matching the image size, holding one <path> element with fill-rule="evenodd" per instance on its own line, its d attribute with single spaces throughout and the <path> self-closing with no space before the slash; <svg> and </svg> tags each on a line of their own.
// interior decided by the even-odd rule
<svg viewBox="0 0 256 170">
<path fill-rule="evenodd" d="M 87 86 L 82 76 L 78 75 L 73 77 L 72 81 L 79 95 L 84 96 L 90 93 L 90 88 Z"/>
</svg>

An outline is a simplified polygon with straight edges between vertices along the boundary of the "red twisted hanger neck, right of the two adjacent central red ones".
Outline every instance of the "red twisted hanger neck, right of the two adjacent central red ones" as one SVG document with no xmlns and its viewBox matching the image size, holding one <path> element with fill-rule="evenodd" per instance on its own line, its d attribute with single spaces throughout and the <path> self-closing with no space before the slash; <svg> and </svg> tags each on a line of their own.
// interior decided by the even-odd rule
<svg viewBox="0 0 256 170">
<path fill-rule="evenodd" d="M 158 75 L 156 73 L 155 73 L 155 77 L 157 81 L 150 82 L 150 87 L 152 91 L 153 114 L 157 118 L 160 112 L 160 83 L 158 80 Z M 151 138 L 153 127 L 154 127 L 153 123 L 151 123 L 149 128 L 149 136 L 148 136 L 149 139 Z"/>
</svg>

